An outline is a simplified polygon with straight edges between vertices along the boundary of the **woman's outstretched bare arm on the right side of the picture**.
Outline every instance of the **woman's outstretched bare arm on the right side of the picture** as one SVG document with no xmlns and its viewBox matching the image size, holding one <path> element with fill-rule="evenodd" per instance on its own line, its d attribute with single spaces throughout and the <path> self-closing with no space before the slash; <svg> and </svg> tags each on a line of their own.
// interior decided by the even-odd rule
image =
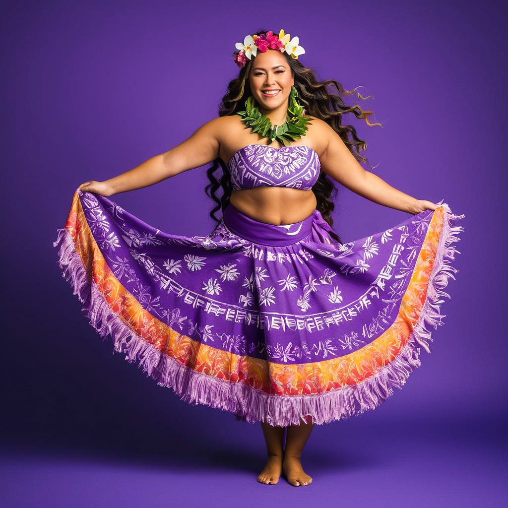
<svg viewBox="0 0 508 508">
<path fill-rule="evenodd" d="M 326 150 L 320 156 L 321 169 L 334 180 L 374 203 L 413 215 L 424 210 L 435 210 L 438 207 L 431 201 L 404 194 L 374 173 L 363 169 L 331 126 L 324 121 L 319 123 L 323 129 L 321 139 L 328 141 Z"/>
</svg>

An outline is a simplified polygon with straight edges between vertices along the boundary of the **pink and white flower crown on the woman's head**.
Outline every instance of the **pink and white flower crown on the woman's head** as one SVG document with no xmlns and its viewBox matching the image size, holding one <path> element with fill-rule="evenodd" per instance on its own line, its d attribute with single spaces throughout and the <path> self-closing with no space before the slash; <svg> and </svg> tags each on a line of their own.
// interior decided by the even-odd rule
<svg viewBox="0 0 508 508">
<path fill-rule="evenodd" d="M 273 35 L 272 30 L 267 31 L 266 34 L 247 35 L 243 40 L 243 44 L 241 42 L 235 44 L 238 51 L 233 53 L 233 57 L 236 65 L 240 68 L 247 63 L 247 58 L 250 60 L 252 55 L 256 56 L 258 50 L 264 53 L 267 49 L 278 49 L 281 53 L 285 51 L 292 58 L 297 59 L 299 55 L 305 53 L 302 46 L 298 45 L 299 42 L 298 37 L 293 37 L 290 40 L 290 35 L 284 34 L 282 29 L 279 31 L 278 36 Z"/>
</svg>

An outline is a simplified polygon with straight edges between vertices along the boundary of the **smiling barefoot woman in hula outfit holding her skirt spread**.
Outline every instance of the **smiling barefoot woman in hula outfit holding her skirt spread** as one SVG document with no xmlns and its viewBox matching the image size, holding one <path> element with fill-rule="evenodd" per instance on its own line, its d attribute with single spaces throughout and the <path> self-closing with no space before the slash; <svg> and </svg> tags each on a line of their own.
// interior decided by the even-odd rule
<svg viewBox="0 0 508 508">
<path fill-rule="evenodd" d="M 259 421 L 259 482 L 283 471 L 308 485 L 300 457 L 313 425 L 376 407 L 420 365 L 418 345 L 429 352 L 425 325 L 441 324 L 438 299 L 457 272 L 450 244 L 462 228 L 450 221 L 464 215 L 362 168 L 352 147 L 365 143 L 340 121 L 370 112 L 315 80 L 298 38 L 261 30 L 236 47 L 241 71 L 220 116 L 131 171 L 82 183 L 54 246 L 116 351 L 182 400 Z M 218 224 L 206 237 L 155 230 L 106 198 L 211 161 Z M 342 244 L 330 179 L 416 217 Z"/>
</svg>

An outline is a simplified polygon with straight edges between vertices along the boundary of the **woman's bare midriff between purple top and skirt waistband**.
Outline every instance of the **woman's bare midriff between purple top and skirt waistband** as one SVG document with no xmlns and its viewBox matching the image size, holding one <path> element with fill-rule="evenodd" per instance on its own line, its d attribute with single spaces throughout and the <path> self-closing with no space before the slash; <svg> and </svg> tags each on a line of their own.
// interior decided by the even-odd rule
<svg viewBox="0 0 508 508">
<path fill-rule="evenodd" d="M 230 202 L 248 217 L 276 226 L 300 222 L 317 205 L 311 189 L 267 185 L 233 190 Z"/>
</svg>

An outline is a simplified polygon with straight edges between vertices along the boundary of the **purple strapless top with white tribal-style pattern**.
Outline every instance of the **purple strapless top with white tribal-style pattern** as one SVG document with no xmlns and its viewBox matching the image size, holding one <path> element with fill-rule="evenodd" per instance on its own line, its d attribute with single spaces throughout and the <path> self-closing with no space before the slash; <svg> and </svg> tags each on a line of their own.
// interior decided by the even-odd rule
<svg viewBox="0 0 508 508">
<path fill-rule="evenodd" d="M 228 163 L 234 189 L 268 185 L 310 189 L 319 177 L 319 156 L 310 146 L 247 145 Z"/>
</svg>

